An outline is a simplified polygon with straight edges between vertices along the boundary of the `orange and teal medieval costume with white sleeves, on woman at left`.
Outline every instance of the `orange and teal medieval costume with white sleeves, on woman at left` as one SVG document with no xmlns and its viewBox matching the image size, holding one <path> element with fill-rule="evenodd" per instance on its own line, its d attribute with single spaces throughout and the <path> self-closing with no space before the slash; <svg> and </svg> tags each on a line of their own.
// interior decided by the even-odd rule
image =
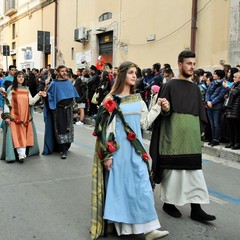
<svg viewBox="0 0 240 240">
<path fill-rule="evenodd" d="M 18 87 L 17 90 L 8 88 L 4 96 L 3 120 L 10 119 L 10 123 L 4 124 L 3 147 L 1 159 L 6 162 L 21 159 L 27 156 L 39 154 L 36 129 L 33 122 L 34 105 L 40 96 L 32 98 L 27 87 Z"/>
</svg>

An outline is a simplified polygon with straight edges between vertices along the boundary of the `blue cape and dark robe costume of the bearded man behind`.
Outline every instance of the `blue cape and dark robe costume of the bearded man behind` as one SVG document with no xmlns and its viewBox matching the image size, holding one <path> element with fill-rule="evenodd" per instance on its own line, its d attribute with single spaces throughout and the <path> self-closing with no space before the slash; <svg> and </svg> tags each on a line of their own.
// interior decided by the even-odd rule
<svg viewBox="0 0 240 240">
<path fill-rule="evenodd" d="M 44 104 L 43 155 L 60 151 L 66 154 L 73 142 L 73 101 L 79 98 L 69 80 L 53 80 Z"/>
</svg>

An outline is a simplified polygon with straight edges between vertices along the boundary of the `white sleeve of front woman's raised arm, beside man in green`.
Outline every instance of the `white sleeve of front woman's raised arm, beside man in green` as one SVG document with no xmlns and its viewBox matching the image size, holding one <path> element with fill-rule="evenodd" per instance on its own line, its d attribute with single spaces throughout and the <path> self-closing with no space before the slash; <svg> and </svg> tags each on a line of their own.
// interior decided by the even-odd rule
<svg viewBox="0 0 240 240">
<path fill-rule="evenodd" d="M 147 130 L 153 121 L 157 118 L 157 116 L 161 112 L 161 106 L 155 104 L 150 111 L 146 106 L 146 103 L 142 100 L 141 101 L 141 128 L 143 130 Z"/>
</svg>

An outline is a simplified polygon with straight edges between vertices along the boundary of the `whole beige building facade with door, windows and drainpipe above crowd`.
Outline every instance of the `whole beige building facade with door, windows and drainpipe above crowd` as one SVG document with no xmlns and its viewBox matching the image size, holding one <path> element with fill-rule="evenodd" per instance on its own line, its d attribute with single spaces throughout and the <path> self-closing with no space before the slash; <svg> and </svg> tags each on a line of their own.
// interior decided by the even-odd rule
<svg viewBox="0 0 240 240">
<path fill-rule="evenodd" d="M 64 64 L 99 55 L 118 66 L 170 63 L 182 50 L 206 70 L 240 64 L 239 0 L 0 0 L 0 67 Z M 10 56 L 3 56 L 3 45 Z"/>
</svg>

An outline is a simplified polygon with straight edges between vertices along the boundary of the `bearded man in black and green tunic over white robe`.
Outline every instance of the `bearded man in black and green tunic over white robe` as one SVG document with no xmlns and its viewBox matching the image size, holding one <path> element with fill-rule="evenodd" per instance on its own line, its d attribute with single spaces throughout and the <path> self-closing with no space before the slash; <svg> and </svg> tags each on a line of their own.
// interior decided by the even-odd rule
<svg viewBox="0 0 240 240">
<path fill-rule="evenodd" d="M 216 217 L 200 205 L 209 203 L 201 154 L 202 126 L 207 119 L 199 88 L 191 81 L 195 63 L 195 53 L 181 52 L 178 78 L 162 86 L 159 97 L 169 101 L 170 110 L 154 122 L 150 154 L 154 180 L 161 183 L 163 210 L 180 218 L 175 205 L 190 203 L 191 219 L 205 222 Z"/>
</svg>

